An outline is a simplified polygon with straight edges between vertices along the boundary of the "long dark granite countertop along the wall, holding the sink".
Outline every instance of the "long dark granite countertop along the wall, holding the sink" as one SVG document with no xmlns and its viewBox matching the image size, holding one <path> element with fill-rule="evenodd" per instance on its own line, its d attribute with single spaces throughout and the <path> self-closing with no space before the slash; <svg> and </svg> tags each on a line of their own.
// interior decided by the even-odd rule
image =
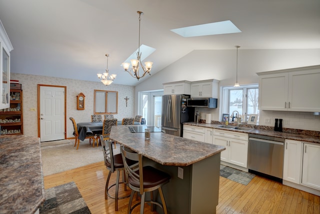
<svg viewBox="0 0 320 214">
<path fill-rule="evenodd" d="M 298 141 L 304 141 L 304 142 L 312 142 L 312 143 L 320 143 L 320 136 L 317 132 L 313 131 L 304 131 L 303 134 L 296 134 L 292 133 L 289 130 L 278 132 L 273 131 L 267 128 L 256 128 L 252 131 L 244 131 L 244 130 L 236 130 L 236 129 L 228 129 L 228 128 L 221 128 L 218 127 L 222 124 L 210 124 L 210 123 L 195 123 L 195 122 L 186 122 L 183 124 L 187 125 L 193 125 L 193 126 L 200 126 L 200 127 L 207 127 L 207 128 L 217 128 L 217 129 L 223 129 L 228 131 L 236 131 L 236 132 L 243 132 L 248 134 L 259 134 L 259 135 L 266 135 L 266 136 L 273 136 L 273 137 L 279 137 L 284 139 L 290 139 L 290 140 L 298 140 Z M 232 125 L 232 124 L 229 124 Z M 244 124 L 241 124 L 240 126 L 243 126 Z M 234 125 L 236 126 L 236 125 Z M 272 128 L 272 127 L 271 127 Z"/>
</svg>

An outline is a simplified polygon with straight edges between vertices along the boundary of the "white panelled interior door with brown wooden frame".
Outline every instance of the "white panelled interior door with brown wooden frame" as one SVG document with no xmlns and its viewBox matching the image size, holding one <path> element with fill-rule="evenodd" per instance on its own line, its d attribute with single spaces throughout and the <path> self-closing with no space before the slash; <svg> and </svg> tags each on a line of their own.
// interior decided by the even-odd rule
<svg viewBox="0 0 320 214">
<path fill-rule="evenodd" d="M 64 139 L 64 87 L 40 86 L 40 141 Z"/>
</svg>

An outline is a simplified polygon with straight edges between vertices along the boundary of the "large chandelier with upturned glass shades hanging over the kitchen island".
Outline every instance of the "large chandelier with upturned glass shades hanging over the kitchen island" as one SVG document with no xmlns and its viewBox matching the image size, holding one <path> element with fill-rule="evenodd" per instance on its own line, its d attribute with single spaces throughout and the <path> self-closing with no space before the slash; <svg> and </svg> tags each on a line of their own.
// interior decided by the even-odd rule
<svg viewBox="0 0 320 214">
<path fill-rule="evenodd" d="M 143 12 L 137 11 L 136 12 L 139 15 L 139 43 L 138 43 L 138 52 L 136 53 L 136 59 L 131 59 L 131 68 L 129 70 L 129 63 L 122 63 L 122 66 L 124 68 L 124 71 L 127 71 L 132 77 L 136 78 L 139 80 L 140 78 L 144 77 L 146 74 L 150 74 L 150 70 L 152 68 L 152 62 L 145 62 L 145 67 L 143 67 L 140 58 L 141 58 L 141 53 L 140 53 L 140 21 L 141 21 L 141 15 L 143 15 Z M 142 68 L 143 74 L 139 76 L 139 67 Z M 141 72 L 142 73 L 142 72 Z"/>
</svg>

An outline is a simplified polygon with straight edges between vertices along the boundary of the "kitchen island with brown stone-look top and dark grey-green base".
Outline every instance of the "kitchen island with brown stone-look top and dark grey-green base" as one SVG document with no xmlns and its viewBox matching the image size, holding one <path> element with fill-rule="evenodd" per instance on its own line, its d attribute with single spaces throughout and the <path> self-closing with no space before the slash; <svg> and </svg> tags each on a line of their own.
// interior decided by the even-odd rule
<svg viewBox="0 0 320 214">
<path fill-rule="evenodd" d="M 110 139 L 142 153 L 143 164 L 171 176 L 162 188 L 168 213 L 215 213 L 225 147 L 162 132 L 151 132 L 145 140 L 144 133 L 131 133 L 128 126 L 112 126 Z M 183 172 L 178 174 L 178 169 Z"/>
</svg>

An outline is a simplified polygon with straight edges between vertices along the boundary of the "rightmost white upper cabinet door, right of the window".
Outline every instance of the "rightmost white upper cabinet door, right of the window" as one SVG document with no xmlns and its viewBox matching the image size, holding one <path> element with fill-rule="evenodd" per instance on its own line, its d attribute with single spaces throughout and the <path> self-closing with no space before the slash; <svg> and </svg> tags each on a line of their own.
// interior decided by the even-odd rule
<svg viewBox="0 0 320 214">
<path fill-rule="evenodd" d="M 288 110 L 319 112 L 320 69 L 289 73 Z"/>
</svg>

